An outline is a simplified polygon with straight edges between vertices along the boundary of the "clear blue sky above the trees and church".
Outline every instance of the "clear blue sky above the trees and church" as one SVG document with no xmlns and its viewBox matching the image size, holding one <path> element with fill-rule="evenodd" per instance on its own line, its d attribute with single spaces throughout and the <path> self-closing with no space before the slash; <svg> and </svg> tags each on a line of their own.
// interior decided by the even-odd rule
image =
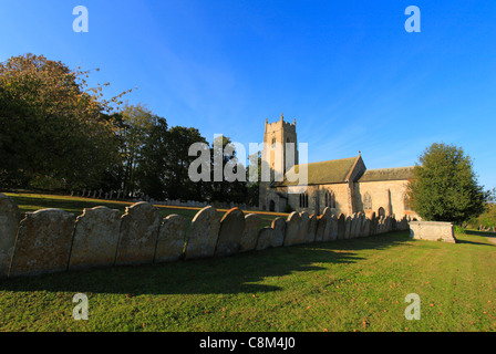
<svg viewBox="0 0 496 354">
<path fill-rule="evenodd" d="M 75 6 L 89 10 L 76 33 Z M 421 10 L 407 33 L 405 9 Z M 0 61 L 28 52 L 100 67 L 110 96 L 167 119 L 261 143 L 297 118 L 309 162 L 356 156 L 411 166 L 435 142 L 462 146 L 496 187 L 496 1 L 2 1 Z"/>
</svg>

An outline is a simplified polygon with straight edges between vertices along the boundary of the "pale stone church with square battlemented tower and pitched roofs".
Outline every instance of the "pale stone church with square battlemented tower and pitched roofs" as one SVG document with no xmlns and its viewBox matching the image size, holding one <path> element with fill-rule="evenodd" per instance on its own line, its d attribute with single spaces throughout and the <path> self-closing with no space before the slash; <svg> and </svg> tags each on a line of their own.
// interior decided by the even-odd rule
<svg viewBox="0 0 496 354">
<path fill-rule="evenodd" d="M 366 169 L 360 152 L 353 157 L 299 165 L 296 128 L 296 119 L 292 124 L 285 122 L 282 114 L 277 122 L 268 123 L 266 119 L 261 163 L 270 167 L 271 174 L 270 181 L 260 183 L 261 210 L 320 215 L 329 207 L 335 216 L 364 212 L 366 217 L 375 214 L 378 217 L 394 215 L 396 219 L 404 216 L 420 219 L 411 209 L 406 195 L 413 166 Z M 291 146 L 293 150 L 288 152 Z M 282 152 L 276 152 L 276 148 Z M 275 177 L 277 166 L 287 166 L 286 174 L 279 171 L 282 178 Z M 299 180 L 288 178 L 302 167 L 308 171 L 307 184 L 300 185 Z"/>
</svg>

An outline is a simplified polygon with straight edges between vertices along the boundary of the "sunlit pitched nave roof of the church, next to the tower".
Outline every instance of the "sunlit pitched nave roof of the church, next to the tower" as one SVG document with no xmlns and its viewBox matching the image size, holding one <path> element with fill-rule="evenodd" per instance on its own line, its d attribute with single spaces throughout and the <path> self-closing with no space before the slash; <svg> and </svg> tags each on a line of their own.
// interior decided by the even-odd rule
<svg viewBox="0 0 496 354">
<path fill-rule="evenodd" d="M 359 156 L 332 159 L 328 162 L 311 163 L 302 166 L 308 166 L 308 185 L 326 185 L 326 184 L 339 184 L 345 183 L 350 173 L 355 166 Z M 300 165 L 294 165 L 288 173 L 298 174 Z M 286 178 L 280 183 L 276 183 L 275 187 L 296 186 L 297 181 L 289 181 Z"/>
</svg>

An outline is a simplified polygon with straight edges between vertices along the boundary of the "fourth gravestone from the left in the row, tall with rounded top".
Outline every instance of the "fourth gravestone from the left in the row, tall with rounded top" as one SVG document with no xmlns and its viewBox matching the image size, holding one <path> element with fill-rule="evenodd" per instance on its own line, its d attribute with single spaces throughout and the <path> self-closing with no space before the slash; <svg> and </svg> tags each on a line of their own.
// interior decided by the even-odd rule
<svg viewBox="0 0 496 354">
<path fill-rule="evenodd" d="M 122 216 L 116 266 L 152 263 L 155 256 L 161 217 L 146 201 L 126 207 Z"/>
</svg>

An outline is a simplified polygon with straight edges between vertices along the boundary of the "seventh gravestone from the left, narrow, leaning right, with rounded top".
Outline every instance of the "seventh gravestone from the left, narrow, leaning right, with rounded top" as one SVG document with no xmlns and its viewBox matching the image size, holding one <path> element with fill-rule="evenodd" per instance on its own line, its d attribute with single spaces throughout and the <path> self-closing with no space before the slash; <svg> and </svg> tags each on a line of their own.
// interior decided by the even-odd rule
<svg viewBox="0 0 496 354">
<path fill-rule="evenodd" d="M 239 208 L 228 210 L 220 220 L 219 237 L 215 256 L 230 256 L 239 252 L 245 230 L 245 214 Z"/>
</svg>

